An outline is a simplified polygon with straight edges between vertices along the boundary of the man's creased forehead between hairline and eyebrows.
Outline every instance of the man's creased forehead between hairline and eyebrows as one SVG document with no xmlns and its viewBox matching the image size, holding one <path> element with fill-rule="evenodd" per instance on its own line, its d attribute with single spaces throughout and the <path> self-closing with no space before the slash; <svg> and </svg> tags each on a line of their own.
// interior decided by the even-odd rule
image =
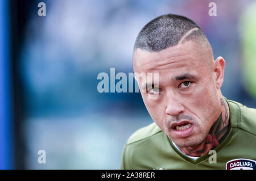
<svg viewBox="0 0 256 181">
<path fill-rule="evenodd" d="M 134 53 L 134 71 L 141 73 L 179 73 L 179 71 L 201 71 L 207 60 L 193 41 L 169 47 L 160 52 L 137 49 Z"/>
</svg>

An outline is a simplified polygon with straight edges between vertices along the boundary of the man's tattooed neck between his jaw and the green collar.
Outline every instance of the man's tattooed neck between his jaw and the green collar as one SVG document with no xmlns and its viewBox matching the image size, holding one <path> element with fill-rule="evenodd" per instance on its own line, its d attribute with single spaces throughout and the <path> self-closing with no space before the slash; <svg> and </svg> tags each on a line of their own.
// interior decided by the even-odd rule
<svg viewBox="0 0 256 181">
<path fill-rule="evenodd" d="M 201 144 L 196 146 L 189 146 L 178 148 L 188 156 L 192 157 L 201 157 L 204 154 L 207 154 L 209 150 L 213 150 L 221 142 L 224 138 L 228 135 L 229 132 L 229 107 L 228 103 L 224 98 L 221 98 L 221 114 L 218 119 L 213 123 L 212 127 L 210 128 L 207 137 Z"/>
</svg>

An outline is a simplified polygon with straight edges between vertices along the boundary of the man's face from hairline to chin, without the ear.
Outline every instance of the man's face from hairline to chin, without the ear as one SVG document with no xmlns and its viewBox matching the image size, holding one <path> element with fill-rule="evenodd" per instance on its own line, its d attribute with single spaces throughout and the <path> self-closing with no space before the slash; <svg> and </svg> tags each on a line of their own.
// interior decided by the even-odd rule
<svg viewBox="0 0 256 181">
<path fill-rule="evenodd" d="M 141 91 L 155 123 L 180 147 L 203 142 L 221 111 L 215 62 L 193 41 L 160 52 L 137 49 L 133 58 L 135 73 L 159 73 L 159 91 Z M 139 81 L 140 89 L 146 83 Z"/>
</svg>

